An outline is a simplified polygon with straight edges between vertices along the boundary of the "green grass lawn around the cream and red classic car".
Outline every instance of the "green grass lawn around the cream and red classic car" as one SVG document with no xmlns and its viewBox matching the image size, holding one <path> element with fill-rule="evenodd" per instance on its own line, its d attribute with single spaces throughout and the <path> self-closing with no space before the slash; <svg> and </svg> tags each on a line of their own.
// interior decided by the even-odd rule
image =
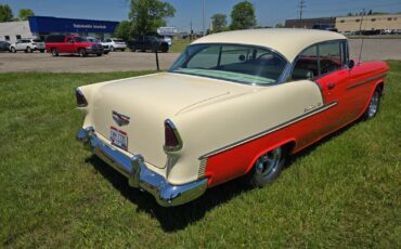
<svg viewBox="0 0 401 249">
<path fill-rule="evenodd" d="M 375 119 L 293 157 L 273 185 L 233 181 L 173 209 L 75 140 L 75 88 L 139 74 L 0 74 L 3 247 L 401 247 L 401 62 Z"/>
</svg>

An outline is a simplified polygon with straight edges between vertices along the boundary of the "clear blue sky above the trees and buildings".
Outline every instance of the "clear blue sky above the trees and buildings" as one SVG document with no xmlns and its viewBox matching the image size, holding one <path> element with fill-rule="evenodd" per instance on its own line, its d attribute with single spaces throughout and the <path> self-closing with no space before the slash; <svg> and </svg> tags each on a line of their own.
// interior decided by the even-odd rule
<svg viewBox="0 0 401 249">
<path fill-rule="evenodd" d="M 179 31 L 189 31 L 191 22 L 194 30 L 202 30 L 203 1 L 205 1 L 206 26 L 216 13 L 227 14 L 230 22 L 232 6 L 241 0 L 166 0 L 176 8 L 176 16 L 167 19 L 169 26 Z M 259 26 L 284 24 L 287 18 L 298 17 L 299 0 L 250 0 L 256 8 Z M 305 0 L 305 17 L 347 15 L 362 9 L 374 12 L 401 12 L 401 0 Z M 22 8 L 31 9 L 36 15 L 122 21 L 128 19 L 129 0 L 0 0 L 8 3 L 17 15 Z"/>
</svg>

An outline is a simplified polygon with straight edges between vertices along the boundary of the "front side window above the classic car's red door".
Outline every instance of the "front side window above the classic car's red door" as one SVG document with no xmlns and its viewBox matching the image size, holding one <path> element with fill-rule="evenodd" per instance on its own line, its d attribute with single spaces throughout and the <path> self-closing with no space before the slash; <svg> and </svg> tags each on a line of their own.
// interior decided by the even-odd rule
<svg viewBox="0 0 401 249">
<path fill-rule="evenodd" d="M 320 73 L 325 75 L 342 68 L 344 61 L 341 54 L 342 42 L 327 42 L 319 45 Z"/>
</svg>

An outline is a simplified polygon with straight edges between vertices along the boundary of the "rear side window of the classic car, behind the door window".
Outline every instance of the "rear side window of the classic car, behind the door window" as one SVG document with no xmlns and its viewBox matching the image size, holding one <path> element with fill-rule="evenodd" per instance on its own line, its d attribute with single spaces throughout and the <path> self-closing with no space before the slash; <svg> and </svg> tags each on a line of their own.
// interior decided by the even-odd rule
<svg viewBox="0 0 401 249">
<path fill-rule="evenodd" d="M 318 45 L 312 45 L 298 56 L 292 79 L 312 79 L 316 76 L 319 76 Z"/>
</svg>

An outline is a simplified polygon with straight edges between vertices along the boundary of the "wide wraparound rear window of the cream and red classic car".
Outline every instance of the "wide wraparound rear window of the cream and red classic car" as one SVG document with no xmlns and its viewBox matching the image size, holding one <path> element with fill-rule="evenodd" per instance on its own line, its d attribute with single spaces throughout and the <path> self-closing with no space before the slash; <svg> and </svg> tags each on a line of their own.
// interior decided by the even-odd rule
<svg viewBox="0 0 401 249">
<path fill-rule="evenodd" d="M 275 83 L 287 62 L 253 45 L 194 44 L 178 57 L 170 73 L 210 77 L 247 84 Z"/>
</svg>

